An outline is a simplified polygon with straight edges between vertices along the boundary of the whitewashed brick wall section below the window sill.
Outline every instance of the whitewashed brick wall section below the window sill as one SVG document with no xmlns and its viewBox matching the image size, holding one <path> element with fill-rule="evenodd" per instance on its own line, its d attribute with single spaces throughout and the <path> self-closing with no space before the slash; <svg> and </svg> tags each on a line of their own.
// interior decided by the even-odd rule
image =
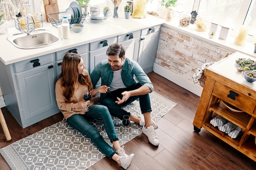
<svg viewBox="0 0 256 170">
<path fill-rule="evenodd" d="M 162 26 L 155 63 L 193 82 L 192 76 L 198 68 L 219 61 L 226 52 L 233 53 Z"/>
</svg>

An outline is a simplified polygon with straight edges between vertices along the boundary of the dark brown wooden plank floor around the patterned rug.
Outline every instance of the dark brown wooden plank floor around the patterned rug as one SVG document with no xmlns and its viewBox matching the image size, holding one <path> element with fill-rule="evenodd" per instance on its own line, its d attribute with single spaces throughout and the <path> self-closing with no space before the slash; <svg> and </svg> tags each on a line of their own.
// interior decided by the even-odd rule
<svg viewBox="0 0 256 170">
<path fill-rule="evenodd" d="M 157 137 L 160 145 L 153 146 L 144 133 L 124 145 L 126 153 L 134 153 L 135 159 L 130 170 L 255 170 L 256 162 L 249 159 L 225 142 L 222 142 L 203 128 L 200 133 L 193 131 L 193 119 L 199 97 L 182 87 L 168 81 L 154 72 L 148 74 L 154 91 L 176 102 L 157 124 Z M 0 148 L 27 137 L 41 129 L 62 120 L 56 114 L 25 129 L 16 122 L 4 107 L 2 112 L 7 121 L 12 140 L 7 142 L 0 128 Z M 9 170 L 9 166 L 0 155 L 0 169 Z M 115 161 L 107 157 L 101 159 L 88 170 L 122 169 Z"/>
</svg>

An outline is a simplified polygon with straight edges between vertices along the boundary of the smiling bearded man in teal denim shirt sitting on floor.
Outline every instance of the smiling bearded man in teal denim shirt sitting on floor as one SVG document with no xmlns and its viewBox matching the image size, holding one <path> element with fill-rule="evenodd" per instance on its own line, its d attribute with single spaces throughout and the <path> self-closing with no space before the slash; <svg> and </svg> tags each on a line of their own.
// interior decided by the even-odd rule
<svg viewBox="0 0 256 170">
<path fill-rule="evenodd" d="M 101 104 L 108 107 L 112 116 L 121 120 L 125 115 L 130 116 L 131 121 L 142 126 L 142 132 L 148 137 L 149 142 L 158 146 L 159 139 L 155 134 L 155 129 L 158 126 L 151 120 L 152 110 L 149 98 L 149 93 L 153 91 L 153 84 L 137 62 L 125 57 L 125 49 L 120 44 L 110 45 L 106 54 L 108 60 L 97 64 L 90 75 L 94 88 L 99 78 L 101 78 L 101 85 L 109 87 L 106 94 L 101 94 Z M 139 83 L 134 76 L 136 76 Z M 143 115 L 133 116 L 121 109 L 122 105 L 130 104 L 137 98 L 139 98 Z"/>
</svg>

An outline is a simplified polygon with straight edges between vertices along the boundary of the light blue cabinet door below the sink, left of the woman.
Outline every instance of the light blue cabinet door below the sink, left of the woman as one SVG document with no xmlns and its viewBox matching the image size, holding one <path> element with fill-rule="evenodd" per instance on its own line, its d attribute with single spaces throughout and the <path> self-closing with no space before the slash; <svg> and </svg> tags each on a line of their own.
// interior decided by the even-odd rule
<svg viewBox="0 0 256 170">
<path fill-rule="evenodd" d="M 52 63 L 16 74 L 20 93 L 20 116 L 23 128 L 58 112 Z M 48 111 L 48 112 L 47 112 Z"/>
</svg>

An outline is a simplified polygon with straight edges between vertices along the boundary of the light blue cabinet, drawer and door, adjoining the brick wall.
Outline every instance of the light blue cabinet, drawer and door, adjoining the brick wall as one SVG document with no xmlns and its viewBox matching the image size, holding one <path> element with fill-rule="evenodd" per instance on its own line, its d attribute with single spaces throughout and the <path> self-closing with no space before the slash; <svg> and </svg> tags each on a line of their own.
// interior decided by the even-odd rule
<svg viewBox="0 0 256 170">
<path fill-rule="evenodd" d="M 141 30 L 138 63 L 145 73 L 153 71 L 161 25 Z"/>
</svg>

